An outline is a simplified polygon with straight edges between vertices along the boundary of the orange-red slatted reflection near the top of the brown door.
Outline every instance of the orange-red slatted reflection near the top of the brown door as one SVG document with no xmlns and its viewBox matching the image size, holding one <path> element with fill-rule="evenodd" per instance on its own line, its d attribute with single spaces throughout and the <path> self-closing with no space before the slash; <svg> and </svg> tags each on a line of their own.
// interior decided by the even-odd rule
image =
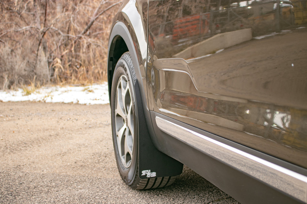
<svg viewBox="0 0 307 204">
<path fill-rule="evenodd" d="M 205 13 L 175 20 L 173 40 L 177 41 L 179 39 L 208 33 L 209 17 L 210 13 Z"/>
</svg>

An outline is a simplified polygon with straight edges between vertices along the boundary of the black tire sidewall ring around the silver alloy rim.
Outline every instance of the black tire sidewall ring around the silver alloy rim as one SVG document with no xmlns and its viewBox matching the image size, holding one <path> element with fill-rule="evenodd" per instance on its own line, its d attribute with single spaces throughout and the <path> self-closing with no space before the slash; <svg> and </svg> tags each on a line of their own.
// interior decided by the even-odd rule
<svg viewBox="0 0 307 204">
<path fill-rule="evenodd" d="M 129 64 L 129 62 L 130 64 Z M 135 73 L 134 66 L 132 65 L 132 60 L 129 53 L 124 53 L 119 59 L 115 66 L 115 71 L 113 74 L 112 88 L 111 88 L 111 123 L 112 123 L 112 138 L 114 144 L 116 163 L 119 169 L 120 176 L 122 180 L 127 184 L 131 185 L 136 176 L 138 167 L 138 114 L 136 107 L 136 97 L 134 90 L 134 80 L 132 78 L 131 72 Z M 134 112 L 134 137 L 133 137 L 133 151 L 132 151 L 132 161 L 129 168 L 123 166 L 117 146 L 116 139 L 116 129 L 115 129 L 115 99 L 116 99 L 116 89 L 120 77 L 124 75 L 127 78 L 128 84 L 130 86 L 131 102 L 133 104 L 132 110 Z"/>
</svg>

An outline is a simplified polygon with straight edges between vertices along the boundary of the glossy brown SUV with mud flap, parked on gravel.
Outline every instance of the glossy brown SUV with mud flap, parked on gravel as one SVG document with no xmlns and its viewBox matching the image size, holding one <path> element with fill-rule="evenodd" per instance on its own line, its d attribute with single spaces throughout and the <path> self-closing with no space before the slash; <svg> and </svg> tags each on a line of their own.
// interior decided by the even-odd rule
<svg viewBox="0 0 307 204">
<path fill-rule="evenodd" d="M 242 203 L 307 203 L 306 0 L 124 0 L 108 82 L 135 189 L 183 164 Z"/>
</svg>

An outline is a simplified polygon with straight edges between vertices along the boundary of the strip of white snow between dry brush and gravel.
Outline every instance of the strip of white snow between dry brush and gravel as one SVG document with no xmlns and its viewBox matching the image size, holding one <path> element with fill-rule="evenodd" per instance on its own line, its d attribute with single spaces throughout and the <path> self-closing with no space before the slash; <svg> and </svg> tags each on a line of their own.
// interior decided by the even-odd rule
<svg viewBox="0 0 307 204">
<path fill-rule="evenodd" d="M 31 90 L 31 87 L 25 87 Z M 109 92 L 107 82 L 88 86 L 52 86 L 41 87 L 29 91 L 0 91 L 0 101 L 43 101 L 48 103 L 79 103 L 79 104 L 107 104 Z M 28 92 L 28 93 L 29 93 Z"/>
</svg>

